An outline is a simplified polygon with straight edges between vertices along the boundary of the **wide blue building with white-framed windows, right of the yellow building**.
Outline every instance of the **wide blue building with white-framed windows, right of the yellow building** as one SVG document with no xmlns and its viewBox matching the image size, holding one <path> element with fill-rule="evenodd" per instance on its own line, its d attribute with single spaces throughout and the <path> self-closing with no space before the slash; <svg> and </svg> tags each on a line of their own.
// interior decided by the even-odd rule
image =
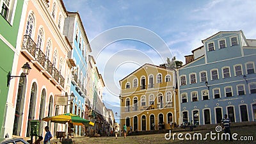
<svg viewBox="0 0 256 144">
<path fill-rule="evenodd" d="M 185 56 L 178 70 L 179 124 L 256 120 L 256 40 L 243 31 L 220 31 Z"/>
</svg>

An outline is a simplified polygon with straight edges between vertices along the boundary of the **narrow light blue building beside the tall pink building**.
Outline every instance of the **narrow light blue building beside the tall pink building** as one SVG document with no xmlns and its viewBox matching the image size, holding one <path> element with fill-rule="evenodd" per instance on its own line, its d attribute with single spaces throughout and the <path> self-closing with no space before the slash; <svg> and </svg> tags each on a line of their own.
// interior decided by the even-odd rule
<svg viewBox="0 0 256 144">
<path fill-rule="evenodd" d="M 71 81 L 70 95 L 74 93 L 75 97 L 69 104 L 69 113 L 86 118 L 87 61 L 88 52 L 92 52 L 92 49 L 78 12 L 68 12 L 68 17 L 65 19 L 64 33 L 73 48 L 68 53 L 68 63 L 72 67 L 72 78 L 68 82 Z M 83 127 L 81 126 L 74 126 L 73 131 L 74 134 L 83 135 Z"/>
</svg>

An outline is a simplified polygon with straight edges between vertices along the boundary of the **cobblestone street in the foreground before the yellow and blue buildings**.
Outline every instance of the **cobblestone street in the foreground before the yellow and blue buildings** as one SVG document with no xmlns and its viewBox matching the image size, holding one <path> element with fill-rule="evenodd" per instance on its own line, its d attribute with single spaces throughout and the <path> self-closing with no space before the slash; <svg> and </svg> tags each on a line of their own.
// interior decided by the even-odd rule
<svg viewBox="0 0 256 144">
<path fill-rule="evenodd" d="M 256 126 L 253 125 L 251 127 L 239 127 L 235 129 L 232 127 L 231 129 L 232 133 L 236 132 L 238 136 L 236 137 L 237 140 L 239 140 L 240 136 L 253 136 L 253 141 L 243 141 L 244 143 L 256 143 Z M 195 132 L 199 131 L 193 131 L 190 132 L 193 139 L 193 134 Z M 205 133 L 211 132 L 211 131 L 201 131 L 203 138 L 205 138 Z M 214 129 L 212 132 L 216 132 Z M 174 132 L 173 132 L 174 133 Z M 179 132 L 177 132 L 178 134 Z M 182 132 L 183 134 L 186 134 L 186 132 Z M 177 140 L 177 134 L 175 136 L 175 140 L 165 140 L 164 133 L 163 134 L 148 134 L 148 135 L 140 135 L 140 136 L 127 136 L 124 137 L 118 137 L 115 139 L 113 136 L 109 137 L 98 137 L 98 138 L 90 138 L 90 137 L 79 137 L 74 138 L 76 143 L 241 143 L 241 141 L 225 141 L 225 140 L 211 140 L 210 136 L 207 136 L 207 140 Z M 182 138 L 185 139 L 184 135 Z"/>
</svg>

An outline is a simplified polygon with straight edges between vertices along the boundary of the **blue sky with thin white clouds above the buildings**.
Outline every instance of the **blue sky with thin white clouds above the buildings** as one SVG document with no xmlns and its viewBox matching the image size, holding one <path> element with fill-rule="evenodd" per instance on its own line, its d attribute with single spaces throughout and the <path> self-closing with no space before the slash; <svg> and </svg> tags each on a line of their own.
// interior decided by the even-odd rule
<svg viewBox="0 0 256 144">
<path fill-rule="evenodd" d="M 184 56 L 219 31 L 256 39 L 255 0 L 63 0 L 79 12 L 100 74 L 103 101 L 120 115 L 119 81 L 145 63 Z M 118 121 L 119 117 L 116 117 Z"/>
</svg>

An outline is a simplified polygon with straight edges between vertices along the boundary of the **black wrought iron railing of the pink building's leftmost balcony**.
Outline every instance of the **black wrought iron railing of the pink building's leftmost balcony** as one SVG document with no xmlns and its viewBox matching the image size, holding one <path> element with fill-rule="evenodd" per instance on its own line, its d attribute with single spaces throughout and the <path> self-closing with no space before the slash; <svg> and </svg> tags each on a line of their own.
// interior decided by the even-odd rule
<svg viewBox="0 0 256 144">
<path fill-rule="evenodd" d="M 35 58 L 36 44 L 29 35 L 24 35 L 22 49 L 26 49 Z"/>
</svg>

